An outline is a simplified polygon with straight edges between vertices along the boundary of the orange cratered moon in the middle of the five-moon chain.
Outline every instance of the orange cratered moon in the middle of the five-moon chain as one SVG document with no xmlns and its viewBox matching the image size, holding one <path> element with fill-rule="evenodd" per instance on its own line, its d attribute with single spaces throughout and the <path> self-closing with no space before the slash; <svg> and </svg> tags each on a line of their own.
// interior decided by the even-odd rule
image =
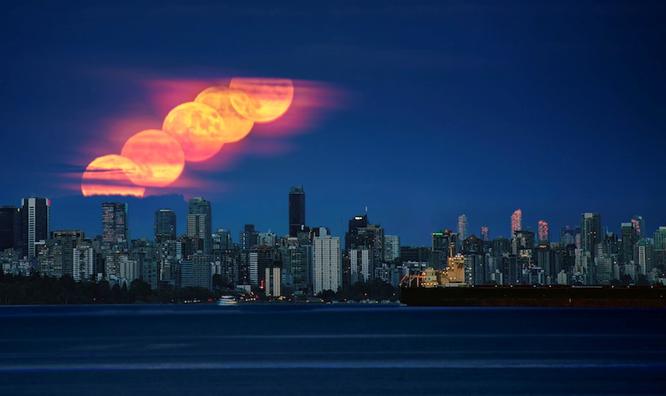
<svg viewBox="0 0 666 396">
<path fill-rule="evenodd" d="M 214 108 L 187 102 L 173 107 L 164 119 L 162 130 L 180 143 L 186 161 L 200 162 L 222 148 L 226 127 Z"/>
</svg>

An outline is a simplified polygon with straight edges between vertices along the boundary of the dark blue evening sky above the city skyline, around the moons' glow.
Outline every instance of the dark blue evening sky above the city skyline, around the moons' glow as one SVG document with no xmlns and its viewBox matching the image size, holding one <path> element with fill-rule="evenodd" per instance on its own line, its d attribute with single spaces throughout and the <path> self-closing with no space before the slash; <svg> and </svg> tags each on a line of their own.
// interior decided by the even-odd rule
<svg viewBox="0 0 666 396">
<path fill-rule="evenodd" d="M 286 234 L 293 184 L 309 225 L 341 235 L 368 206 L 407 245 L 462 213 L 471 232 L 507 236 L 517 208 L 554 239 L 581 212 L 610 230 L 634 214 L 649 234 L 666 224 L 661 1 L 65 3 L 0 16 L 0 204 L 47 196 L 53 229 L 101 232 L 96 200 L 71 186 L 96 155 L 119 153 L 109 120 L 164 117 L 144 81 L 232 76 L 344 92 L 307 130 L 244 141 L 268 150 L 191 166 L 200 191 L 170 191 L 212 200 L 214 227 L 234 235 L 244 223 Z M 162 205 L 177 204 L 133 201 L 133 236 L 151 236 L 146 213 Z"/>
</svg>

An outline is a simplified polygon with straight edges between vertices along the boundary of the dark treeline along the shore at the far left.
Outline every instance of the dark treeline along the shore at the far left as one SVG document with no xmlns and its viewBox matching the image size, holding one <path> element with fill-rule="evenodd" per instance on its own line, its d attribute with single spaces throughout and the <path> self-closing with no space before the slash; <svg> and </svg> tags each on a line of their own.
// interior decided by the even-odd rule
<svg viewBox="0 0 666 396">
<path fill-rule="evenodd" d="M 0 271 L 0 304 L 133 304 L 182 302 L 215 299 L 219 292 L 199 287 L 153 290 L 136 279 L 130 286 L 110 287 L 109 282 L 74 282 L 60 278 L 2 274 Z"/>
</svg>

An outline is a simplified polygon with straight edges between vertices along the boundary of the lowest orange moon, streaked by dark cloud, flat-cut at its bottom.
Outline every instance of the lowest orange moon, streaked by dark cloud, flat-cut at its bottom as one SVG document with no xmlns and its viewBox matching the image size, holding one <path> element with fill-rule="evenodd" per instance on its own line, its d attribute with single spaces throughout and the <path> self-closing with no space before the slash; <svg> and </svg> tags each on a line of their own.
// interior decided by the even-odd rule
<svg viewBox="0 0 666 396">
<path fill-rule="evenodd" d="M 139 175 L 141 170 L 132 160 L 120 155 L 97 157 L 85 168 L 81 177 L 83 196 L 136 196 L 146 193 L 137 187 L 127 175 Z"/>
</svg>

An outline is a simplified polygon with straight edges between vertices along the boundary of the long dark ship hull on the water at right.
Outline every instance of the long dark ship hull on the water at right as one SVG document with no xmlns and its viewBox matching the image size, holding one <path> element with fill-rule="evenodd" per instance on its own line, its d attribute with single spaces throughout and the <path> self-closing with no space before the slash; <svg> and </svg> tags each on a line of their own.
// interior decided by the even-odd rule
<svg viewBox="0 0 666 396">
<path fill-rule="evenodd" d="M 476 286 L 402 288 L 400 301 L 416 307 L 666 308 L 666 288 L 650 286 Z"/>
</svg>

